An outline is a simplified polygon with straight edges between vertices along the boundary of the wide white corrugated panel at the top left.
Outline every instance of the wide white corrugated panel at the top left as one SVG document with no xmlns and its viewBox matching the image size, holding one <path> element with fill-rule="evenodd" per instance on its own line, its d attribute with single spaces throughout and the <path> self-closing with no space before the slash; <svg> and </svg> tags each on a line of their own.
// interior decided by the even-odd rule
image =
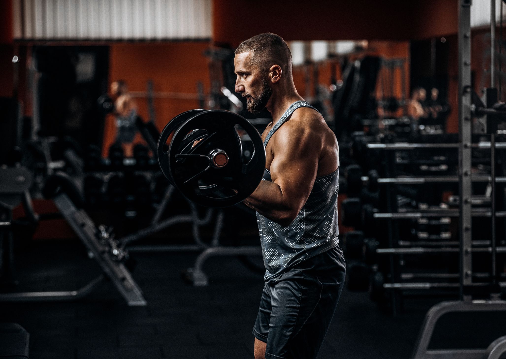
<svg viewBox="0 0 506 359">
<path fill-rule="evenodd" d="M 13 0 L 18 39 L 201 39 L 212 0 Z"/>
</svg>

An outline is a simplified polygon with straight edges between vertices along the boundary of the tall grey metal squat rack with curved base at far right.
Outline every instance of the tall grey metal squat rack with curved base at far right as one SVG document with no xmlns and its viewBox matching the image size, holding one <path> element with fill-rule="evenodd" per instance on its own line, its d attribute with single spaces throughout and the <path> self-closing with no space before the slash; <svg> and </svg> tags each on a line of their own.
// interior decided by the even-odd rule
<svg viewBox="0 0 506 359">
<path fill-rule="evenodd" d="M 503 0 L 501 0 L 503 1 Z M 490 32 L 491 32 L 491 66 L 490 66 L 490 88 L 494 90 L 494 42 L 495 42 L 495 0 L 491 0 L 490 11 Z M 471 288 L 473 287 L 473 266 L 472 266 L 472 178 L 471 178 L 471 141 L 472 118 L 484 114 L 492 114 L 490 98 L 487 98 L 487 108 L 484 111 L 476 110 L 473 106 L 473 90 L 471 88 L 471 6 L 472 0 L 458 1 L 458 123 L 459 123 L 459 195 L 463 201 L 459 201 L 459 251 L 460 256 L 460 283 L 459 300 L 445 301 L 436 304 L 426 314 L 416 341 L 412 358 L 448 358 L 463 359 L 483 357 L 496 359 L 506 352 L 506 336 L 493 341 L 486 349 L 444 349 L 428 350 L 432 333 L 439 318 L 449 312 L 475 312 L 475 311 L 504 311 L 506 301 L 500 300 L 498 288 L 495 258 L 497 248 L 495 244 L 495 132 L 490 134 L 491 150 L 491 174 L 492 186 L 490 217 L 492 223 L 491 257 L 492 257 L 492 286 L 490 299 L 473 300 Z M 501 14 L 502 15 L 502 14 Z M 487 92 L 488 93 L 488 92 Z M 488 97 L 488 96 L 487 96 Z M 493 97 L 493 96 L 492 96 Z M 496 102 L 497 96 L 494 101 Z"/>
</svg>

